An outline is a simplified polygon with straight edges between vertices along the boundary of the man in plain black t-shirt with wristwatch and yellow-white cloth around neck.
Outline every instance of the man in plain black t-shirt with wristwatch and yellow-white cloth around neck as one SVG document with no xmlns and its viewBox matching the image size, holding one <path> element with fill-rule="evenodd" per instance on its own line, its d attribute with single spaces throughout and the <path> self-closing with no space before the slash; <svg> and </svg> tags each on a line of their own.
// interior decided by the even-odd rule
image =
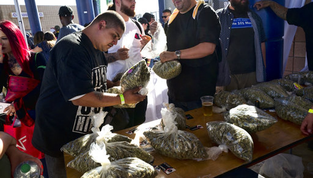
<svg viewBox="0 0 313 178">
<path fill-rule="evenodd" d="M 182 72 L 167 80 L 169 102 L 185 111 L 201 107 L 200 97 L 213 96 L 218 73 L 215 47 L 220 23 L 212 7 L 203 0 L 174 1 L 168 20 L 167 52 L 161 62 L 178 60 Z"/>
</svg>

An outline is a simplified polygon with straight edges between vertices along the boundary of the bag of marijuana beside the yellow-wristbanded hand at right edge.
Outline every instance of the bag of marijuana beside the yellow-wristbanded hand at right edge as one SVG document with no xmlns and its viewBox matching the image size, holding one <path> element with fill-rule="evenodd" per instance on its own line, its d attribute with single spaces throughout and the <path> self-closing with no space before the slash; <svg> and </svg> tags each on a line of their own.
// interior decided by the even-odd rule
<svg viewBox="0 0 313 178">
<path fill-rule="evenodd" d="M 298 125 L 301 125 L 308 113 L 307 109 L 296 105 L 286 98 L 275 99 L 275 110 L 280 118 Z"/>
</svg>

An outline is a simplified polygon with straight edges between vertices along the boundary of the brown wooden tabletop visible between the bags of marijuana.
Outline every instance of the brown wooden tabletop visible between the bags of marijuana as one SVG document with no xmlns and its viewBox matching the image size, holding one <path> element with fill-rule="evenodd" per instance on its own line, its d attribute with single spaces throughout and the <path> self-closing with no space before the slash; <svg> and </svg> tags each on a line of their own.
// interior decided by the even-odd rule
<svg viewBox="0 0 313 178">
<path fill-rule="evenodd" d="M 187 125 L 195 126 L 200 124 L 201 126 L 204 127 L 203 129 L 198 129 L 195 131 L 190 131 L 189 129 L 186 129 L 186 131 L 194 133 L 203 143 L 204 146 L 207 147 L 217 146 L 210 140 L 208 136 L 206 130 L 206 123 L 209 121 L 223 121 L 223 115 L 213 114 L 213 116 L 204 117 L 202 108 L 187 111 L 186 114 L 190 114 L 191 116 L 194 117 L 193 119 L 186 121 Z M 237 158 L 230 151 L 228 151 L 228 153 L 222 153 L 215 161 L 178 160 L 174 158 L 169 158 L 167 156 L 162 156 L 156 151 L 153 151 L 150 153 L 155 158 L 153 165 L 160 165 L 166 162 L 176 169 L 175 172 L 169 175 L 166 175 L 163 171 L 160 171 L 157 177 L 158 178 L 216 177 L 218 175 L 236 169 L 240 166 L 244 167 L 252 166 L 260 161 L 263 161 L 271 156 L 274 156 L 280 152 L 288 150 L 296 145 L 299 145 L 300 143 L 311 140 L 313 138 L 313 135 L 306 136 L 302 134 L 299 125 L 278 118 L 275 112 L 269 114 L 276 117 L 278 119 L 278 122 L 276 122 L 273 126 L 264 131 L 259 131 L 251 135 L 254 141 L 253 160 L 251 162 Z M 156 126 L 159 123 L 160 120 L 155 120 L 141 124 L 140 126 L 137 127 L 139 131 L 136 131 L 132 135 L 126 134 L 126 131 L 129 131 L 131 128 L 117 131 L 116 133 L 127 135 L 130 138 L 134 139 L 135 143 L 139 143 L 139 141 L 142 140 L 141 130 L 151 126 Z M 65 155 L 64 158 L 66 162 L 65 164 L 67 164 L 67 162 L 73 159 L 71 156 L 68 155 Z M 76 178 L 80 177 L 81 175 L 82 173 L 67 168 L 68 178 Z"/>
</svg>

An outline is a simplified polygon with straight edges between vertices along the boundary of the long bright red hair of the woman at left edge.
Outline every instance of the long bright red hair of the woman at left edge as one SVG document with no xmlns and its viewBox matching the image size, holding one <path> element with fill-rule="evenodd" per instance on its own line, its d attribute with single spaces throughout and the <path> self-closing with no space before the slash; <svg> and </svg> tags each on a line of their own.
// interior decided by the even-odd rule
<svg viewBox="0 0 313 178">
<path fill-rule="evenodd" d="M 16 26 L 13 22 L 4 20 L 0 22 L 0 30 L 8 37 L 13 56 L 15 57 L 18 64 L 22 67 L 22 70 L 33 78 L 33 72 L 29 68 L 30 50 L 18 26 Z M 6 72 L 8 73 L 9 68 L 7 56 L 8 55 L 5 55 L 5 62 L 3 63 Z"/>
</svg>

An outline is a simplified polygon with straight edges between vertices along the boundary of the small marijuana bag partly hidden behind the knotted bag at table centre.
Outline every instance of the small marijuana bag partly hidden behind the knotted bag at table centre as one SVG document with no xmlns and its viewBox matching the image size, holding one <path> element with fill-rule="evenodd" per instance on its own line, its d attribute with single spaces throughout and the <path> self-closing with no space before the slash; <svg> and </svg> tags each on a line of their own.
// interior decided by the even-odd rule
<svg viewBox="0 0 313 178">
<path fill-rule="evenodd" d="M 172 117 L 174 117 L 174 121 L 176 122 L 176 126 L 178 130 L 185 130 L 186 129 L 186 117 L 185 117 L 185 111 L 182 108 L 179 107 L 175 107 L 175 105 L 173 103 L 169 104 L 169 103 L 163 103 L 163 106 L 165 107 L 165 109 L 169 110 L 170 113 L 172 114 Z M 169 113 L 169 112 L 161 112 L 162 114 L 165 113 Z M 161 126 L 162 128 L 164 128 L 164 124 L 163 124 L 163 116 L 162 115 L 162 120 L 161 120 Z"/>
</svg>

